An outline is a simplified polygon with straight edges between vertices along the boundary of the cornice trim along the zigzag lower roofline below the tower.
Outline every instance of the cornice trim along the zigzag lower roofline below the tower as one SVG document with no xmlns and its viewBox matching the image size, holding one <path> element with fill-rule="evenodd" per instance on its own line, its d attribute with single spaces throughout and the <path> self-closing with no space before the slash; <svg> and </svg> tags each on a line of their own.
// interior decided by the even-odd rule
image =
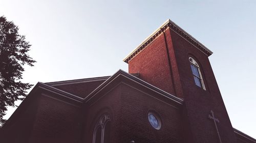
<svg viewBox="0 0 256 143">
<path fill-rule="evenodd" d="M 91 100 L 97 93 L 102 91 L 107 85 L 111 84 L 113 80 L 115 80 L 118 77 L 124 77 L 125 79 L 129 79 L 133 82 L 136 82 L 143 87 L 152 90 L 162 97 L 165 97 L 165 99 L 169 99 L 174 101 L 175 103 L 182 105 L 183 100 L 180 98 L 175 97 L 174 95 L 171 95 L 169 93 L 166 93 L 165 91 L 162 91 L 161 89 L 158 89 L 154 87 L 153 85 L 141 80 L 138 78 L 139 73 L 129 74 L 124 72 L 123 70 L 117 71 L 114 75 L 110 76 L 108 79 L 106 79 L 102 84 L 99 85 L 98 88 L 96 88 L 92 93 L 90 93 L 86 98 L 81 98 L 79 96 L 76 96 L 74 94 L 59 90 L 57 88 L 51 87 L 50 85 L 42 82 L 37 82 L 35 87 L 32 89 L 32 91 L 29 93 L 28 97 L 19 105 L 19 107 L 14 111 L 12 116 L 8 119 L 6 124 L 2 127 L 2 129 L 7 128 L 9 124 L 12 122 L 12 120 L 15 119 L 19 115 L 22 110 L 26 108 L 29 102 L 32 101 L 33 97 L 37 97 L 37 94 L 40 94 L 42 96 L 46 96 L 61 102 L 65 102 L 67 104 L 81 107 L 82 104 L 87 103 L 89 100 Z M 91 78 L 92 79 L 92 78 Z M 61 81 L 62 82 L 62 81 Z M 76 82 L 76 81 L 75 81 Z M 83 79 L 82 81 L 83 82 Z M 73 83 L 73 81 L 72 81 Z M 121 83 L 121 82 L 120 82 Z"/>
</svg>

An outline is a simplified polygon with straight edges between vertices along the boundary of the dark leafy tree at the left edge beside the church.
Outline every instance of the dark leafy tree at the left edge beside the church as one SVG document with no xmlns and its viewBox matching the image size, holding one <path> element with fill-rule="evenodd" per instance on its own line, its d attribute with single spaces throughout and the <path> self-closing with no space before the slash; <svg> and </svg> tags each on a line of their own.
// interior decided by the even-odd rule
<svg viewBox="0 0 256 143">
<path fill-rule="evenodd" d="M 0 17 L 0 125 L 7 106 L 15 106 L 14 101 L 24 100 L 32 84 L 23 83 L 24 65 L 33 66 L 35 61 L 28 55 L 31 45 L 24 35 L 18 34 L 18 26 L 6 17 Z"/>
</svg>

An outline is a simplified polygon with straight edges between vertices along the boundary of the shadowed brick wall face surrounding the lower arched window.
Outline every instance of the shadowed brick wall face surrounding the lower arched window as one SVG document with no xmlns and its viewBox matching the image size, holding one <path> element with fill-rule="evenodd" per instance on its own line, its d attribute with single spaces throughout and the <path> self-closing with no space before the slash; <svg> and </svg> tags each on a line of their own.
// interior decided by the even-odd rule
<svg viewBox="0 0 256 143">
<path fill-rule="evenodd" d="M 93 140 L 93 131 L 95 124 L 98 122 L 100 116 L 104 113 L 108 113 L 111 118 L 111 142 L 119 143 L 119 123 L 120 123 L 120 94 L 121 87 L 118 86 L 115 89 L 111 90 L 106 95 L 103 96 L 97 102 L 91 106 L 85 106 L 84 110 L 88 112 L 83 112 L 84 121 L 84 133 L 83 133 L 83 142 L 92 142 Z"/>
</svg>

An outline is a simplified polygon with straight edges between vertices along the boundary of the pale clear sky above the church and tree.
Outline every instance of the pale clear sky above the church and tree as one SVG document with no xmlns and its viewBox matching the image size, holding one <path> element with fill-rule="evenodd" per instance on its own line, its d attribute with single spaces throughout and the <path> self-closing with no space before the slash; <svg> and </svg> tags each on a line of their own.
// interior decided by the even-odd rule
<svg viewBox="0 0 256 143">
<path fill-rule="evenodd" d="M 127 71 L 122 60 L 168 18 L 209 56 L 232 126 L 256 138 L 256 1 L 0 1 L 37 61 L 36 84 Z M 8 118 L 14 109 L 8 110 Z"/>
</svg>

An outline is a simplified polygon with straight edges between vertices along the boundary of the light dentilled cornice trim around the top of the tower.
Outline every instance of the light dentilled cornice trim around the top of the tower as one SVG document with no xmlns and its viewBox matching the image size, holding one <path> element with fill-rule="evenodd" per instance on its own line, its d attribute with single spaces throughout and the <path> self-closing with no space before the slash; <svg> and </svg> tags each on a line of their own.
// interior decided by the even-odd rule
<svg viewBox="0 0 256 143">
<path fill-rule="evenodd" d="M 137 48 L 135 48 L 129 55 L 127 55 L 126 58 L 123 59 L 123 61 L 125 63 L 129 63 L 130 60 L 132 60 L 148 44 L 154 41 L 162 33 L 162 31 L 165 31 L 167 28 L 170 28 L 171 30 L 179 34 L 182 38 L 187 40 L 189 43 L 193 44 L 196 48 L 198 48 L 200 51 L 205 53 L 207 56 L 212 54 L 212 51 L 206 48 L 202 43 L 200 43 L 194 37 L 192 37 L 187 32 L 185 32 L 181 27 L 179 27 L 173 21 L 171 21 L 170 19 L 167 19 L 159 28 L 157 28 L 156 31 L 154 31 L 142 43 L 140 43 L 139 46 L 137 46 Z"/>
</svg>

